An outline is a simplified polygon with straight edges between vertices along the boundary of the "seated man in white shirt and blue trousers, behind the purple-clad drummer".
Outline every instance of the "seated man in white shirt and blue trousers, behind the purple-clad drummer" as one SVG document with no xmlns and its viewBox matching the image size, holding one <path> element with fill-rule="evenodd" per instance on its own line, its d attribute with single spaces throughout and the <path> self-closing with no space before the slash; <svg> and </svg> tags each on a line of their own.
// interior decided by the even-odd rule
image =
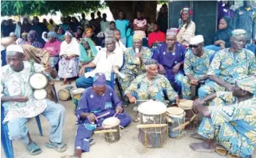
<svg viewBox="0 0 256 158">
<path fill-rule="evenodd" d="M 97 72 L 102 72 L 106 76 L 108 86 L 111 85 L 111 73 L 116 72 L 123 65 L 123 52 L 116 48 L 116 40 L 113 36 L 105 37 L 105 47 L 96 54 L 96 57 L 89 64 L 81 67 L 76 80 L 77 88 L 88 88 L 93 86 L 93 77 Z M 85 68 L 96 67 L 93 71 L 85 73 Z"/>
</svg>

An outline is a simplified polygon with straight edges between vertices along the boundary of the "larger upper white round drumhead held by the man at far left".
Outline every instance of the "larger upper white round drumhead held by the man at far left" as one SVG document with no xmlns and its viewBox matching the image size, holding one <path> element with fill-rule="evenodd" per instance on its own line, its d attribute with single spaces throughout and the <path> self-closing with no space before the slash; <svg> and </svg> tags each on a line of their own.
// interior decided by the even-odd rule
<svg viewBox="0 0 256 158">
<path fill-rule="evenodd" d="M 47 86 L 48 79 L 43 73 L 36 72 L 30 75 L 29 83 L 34 90 L 41 90 Z"/>
</svg>

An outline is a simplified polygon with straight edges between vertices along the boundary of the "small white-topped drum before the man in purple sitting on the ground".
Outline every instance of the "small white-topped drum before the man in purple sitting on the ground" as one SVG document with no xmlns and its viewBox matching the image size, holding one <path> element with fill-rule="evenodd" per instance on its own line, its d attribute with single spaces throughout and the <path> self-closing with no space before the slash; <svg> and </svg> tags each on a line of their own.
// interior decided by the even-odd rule
<svg viewBox="0 0 256 158">
<path fill-rule="evenodd" d="M 102 122 L 102 127 L 106 130 L 104 133 L 105 141 L 108 143 L 116 143 L 120 140 L 120 120 L 118 118 L 106 118 Z M 108 130 L 109 129 L 109 130 Z"/>
</svg>

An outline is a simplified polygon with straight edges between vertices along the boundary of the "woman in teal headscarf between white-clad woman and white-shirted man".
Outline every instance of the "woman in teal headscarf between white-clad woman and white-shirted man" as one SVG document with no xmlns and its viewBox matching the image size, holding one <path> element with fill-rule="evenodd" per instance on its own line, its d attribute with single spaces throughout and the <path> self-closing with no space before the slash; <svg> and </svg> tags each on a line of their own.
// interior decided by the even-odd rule
<svg viewBox="0 0 256 158">
<path fill-rule="evenodd" d="M 82 66 L 88 64 L 95 58 L 96 53 L 97 50 L 95 44 L 93 44 L 93 40 L 89 38 L 82 38 L 80 42 L 79 71 Z"/>
</svg>

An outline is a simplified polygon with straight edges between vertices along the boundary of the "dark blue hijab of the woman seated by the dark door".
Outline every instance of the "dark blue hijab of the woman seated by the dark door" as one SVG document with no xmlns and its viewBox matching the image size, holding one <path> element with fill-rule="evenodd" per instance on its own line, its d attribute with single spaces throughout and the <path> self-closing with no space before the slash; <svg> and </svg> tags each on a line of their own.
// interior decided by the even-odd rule
<svg viewBox="0 0 256 158">
<path fill-rule="evenodd" d="M 225 47 L 229 48 L 230 47 L 230 37 L 232 36 L 232 27 L 230 25 L 230 17 L 222 17 L 221 19 L 224 19 L 226 21 L 226 29 L 220 30 L 218 29 L 217 32 L 215 33 L 214 41 L 216 40 L 223 40 L 225 41 Z"/>
</svg>

